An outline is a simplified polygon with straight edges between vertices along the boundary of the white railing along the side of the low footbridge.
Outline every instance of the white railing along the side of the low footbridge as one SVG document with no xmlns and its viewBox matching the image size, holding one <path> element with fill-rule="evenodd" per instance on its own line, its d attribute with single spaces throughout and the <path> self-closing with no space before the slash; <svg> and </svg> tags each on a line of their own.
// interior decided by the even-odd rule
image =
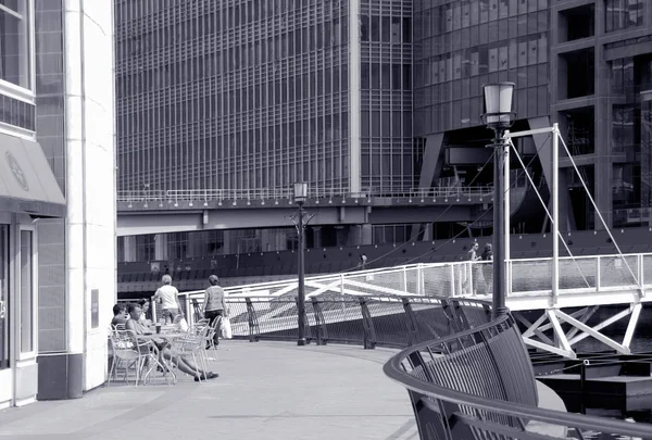
<svg viewBox="0 0 652 440">
<path fill-rule="evenodd" d="M 510 299 L 552 296 L 552 259 L 512 260 L 506 263 L 506 271 L 507 305 Z M 491 293 L 491 263 L 485 262 L 412 264 L 306 277 L 305 294 L 306 298 L 327 293 L 482 298 Z M 560 298 L 589 293 L 591 299 L 582 297 L 582 301 L 606 303 L 607 296 L 618 292 L 644 297 L 645 288 L 651 287 L 652 254 L 560 257 Z M 229 298 L 294 296 L 297 279 L 227 287 L 225 291 Z M 189 300 L 203 299 L 203 290 L 186 294 Z"/>
</svg>

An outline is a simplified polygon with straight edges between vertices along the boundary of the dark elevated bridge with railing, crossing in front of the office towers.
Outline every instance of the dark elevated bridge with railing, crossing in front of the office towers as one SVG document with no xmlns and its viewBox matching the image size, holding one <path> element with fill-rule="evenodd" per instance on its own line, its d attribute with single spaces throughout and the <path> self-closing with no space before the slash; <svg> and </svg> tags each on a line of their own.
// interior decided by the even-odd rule
<svg viewBox="0 0 652 440">
<path fill-rule="evenodd" d="M 313 189 L 305 208 L 315 215 L 313 225 L 389 224 L 405 215 L 414 223 L 432 218 L 471 222 L 492 200 L 492 187 L 415 189 L 391 194 Z M 118 191 L 116 234 L 288 227 L 288 215 L 293 210 L 289 189 Z"/>
</svg>

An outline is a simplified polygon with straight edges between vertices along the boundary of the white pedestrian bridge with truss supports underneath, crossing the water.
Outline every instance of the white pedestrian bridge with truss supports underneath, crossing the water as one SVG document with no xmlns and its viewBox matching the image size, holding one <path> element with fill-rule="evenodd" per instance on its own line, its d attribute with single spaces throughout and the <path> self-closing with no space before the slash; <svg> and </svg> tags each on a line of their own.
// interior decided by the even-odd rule
<svg viewBox="0 0 652 440">
<path fill-rule="evenodd" d="M 524 326 L 526 344 L 575 357 L 574 345 L 592 337 L 605 349 L 630 353 L 642 304 L 650 301 L 647 289 L 652 289 L 652 253 L 560 257 L 556 291 L 552 286 L 553 259 L 505 264 L 506 304 Z M 405 301 L 416 304 L 412 307 L 441 309 L 440 316 L 446 317 L 468 300 L 490 302 L 490 280 L 491 266 L 481 262 L 413 264 L 306 277 L 306 318 L 318 331 L 321 324 L 364 324 L 365 315 L 376 313 L 399 319 L 393 325 L 402 328 L 405 323 L 401 319 L 409 319 Z M 234 335 L 259 338 L 296 332 L 297 286 L 297 279 L 291 279 L 225 288 L 235 317 Z M 201 307 L 203 291 L 184 292 L 181 298 L 185 309 L 191 311 Z M 620 304 L 623 310 L 593 327 L 587 325 L 601 306 L 613 304 Z M 529 311 L 534 312 L 524 313 Z M 488 312 L 479 307 L 477 313 Z M 187 315 L 192 319 L 192 313 Z M 532 315 L 538 316 L 534 322 Z M 601 332 L 625 318 L 629 322 L 622 341 Z"/>
</svg>

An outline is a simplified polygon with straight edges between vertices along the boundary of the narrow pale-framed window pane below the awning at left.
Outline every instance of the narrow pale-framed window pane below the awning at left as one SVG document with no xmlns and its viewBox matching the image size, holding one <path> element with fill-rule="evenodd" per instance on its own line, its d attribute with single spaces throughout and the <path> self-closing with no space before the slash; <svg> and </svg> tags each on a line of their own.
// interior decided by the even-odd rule
<svg viewBox="0 0 652 440">
<path fill-rule="evenodd" d="M 32 276 L 32 231 L 21 230 L 21 352 L 34 350 L 34 282 Z"/>
</svg>

